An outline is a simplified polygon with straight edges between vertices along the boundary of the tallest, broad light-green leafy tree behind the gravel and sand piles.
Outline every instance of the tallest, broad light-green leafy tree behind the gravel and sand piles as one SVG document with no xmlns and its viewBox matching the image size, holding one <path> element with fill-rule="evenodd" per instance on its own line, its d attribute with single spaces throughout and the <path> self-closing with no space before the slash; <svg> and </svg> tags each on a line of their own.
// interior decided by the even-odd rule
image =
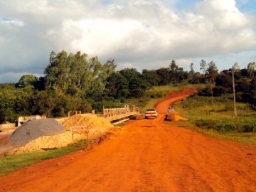
<svg viewBox="0 0 256 192">
<path fill-rule="evenodd" d="M 50 64 L 45 70 L 46 90 L 55 90 L 59 95 L 68 94 L 84 98 L 98 77 L 102 65 L 97 57 L 87 62 L 87 54 L 78 51 L 69 55 L 65 50 L 50 53 Z"/>
</svg>

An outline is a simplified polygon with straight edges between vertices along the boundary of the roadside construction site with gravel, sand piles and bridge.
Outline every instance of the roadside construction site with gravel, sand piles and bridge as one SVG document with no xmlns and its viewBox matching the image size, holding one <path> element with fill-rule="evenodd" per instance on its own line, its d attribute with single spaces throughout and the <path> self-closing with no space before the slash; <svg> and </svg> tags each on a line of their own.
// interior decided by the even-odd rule
<svg viewBox="0 0 256 192">
<path fill-rule="evenodd" d="M 127 121 L 134 114 L 134 109 L 124 107 L 104 109 L 103 114 L 73 111 L 68 112 L 68 117 L 55 119 L 41 115 L 18 117 L 15 124 L 0 125 L 0 154 L 57 149 L 85 139 L 85 134 L 73 135 L 72 127 L 87 126 L 90 139 L 96 139 L 111 132 L 113 124 Z"/>
</svg>

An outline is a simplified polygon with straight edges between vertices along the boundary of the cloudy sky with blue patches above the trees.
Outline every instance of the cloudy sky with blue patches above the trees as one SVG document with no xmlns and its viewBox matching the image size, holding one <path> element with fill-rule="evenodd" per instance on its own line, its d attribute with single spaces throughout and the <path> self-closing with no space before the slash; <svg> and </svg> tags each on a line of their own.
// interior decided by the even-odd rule
<svg viewBox="0 0 256 192">
<path fill-rule="evenodd" d="M 52 50 L 114 58 L 117 70 L 256 60 L 256 0 L 6 0 L 0 19 L 0 82 L 42 76 Z"/>
</svg>

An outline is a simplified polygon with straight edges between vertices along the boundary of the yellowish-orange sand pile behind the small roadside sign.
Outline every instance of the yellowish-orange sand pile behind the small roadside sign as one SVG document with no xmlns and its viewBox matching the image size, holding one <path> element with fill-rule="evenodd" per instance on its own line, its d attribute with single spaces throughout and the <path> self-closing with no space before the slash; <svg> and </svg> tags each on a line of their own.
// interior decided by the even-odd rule
<svg viewBox="0 0 256 192">
<path fill-rule="evenodd" d="M 84 125 L 89 127 L 89 139 L 101 137 L 102 135 L 107 134 L 107 132 L 111 132 L 112 128 L 114 127 L 109 120 L 105 119 L 104 117 L 97 117 L 96 114 L 76 114 L 63 122 L 63 126 L 66 129 L 65 132 L 52 136 L 39 137 L 38 139 L 35 139 L 18 149 L 12 149 L 9 151 L 9 154 L 21 154 L 24 152 L 43 150 L 46 151 L 67 146 L 73 142 L 70 127 Z M 85 138 L 86 136 L 84 134 L 74 134 L 75 141 Z"/>
</svg>

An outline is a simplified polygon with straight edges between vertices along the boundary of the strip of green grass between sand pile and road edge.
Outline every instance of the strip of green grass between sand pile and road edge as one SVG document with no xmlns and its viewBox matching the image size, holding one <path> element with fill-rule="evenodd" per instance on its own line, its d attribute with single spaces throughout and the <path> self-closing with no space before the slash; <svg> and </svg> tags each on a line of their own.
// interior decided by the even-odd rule
<svg viewBox="0 0 256 192">
<path fill-rule="evenodd" d="M 88 144 L 92 144 L 92 140 L 90 140 Z M 0 158 L 0 176 L 10 174 L 11 172 L 23 169 L 26 166 L 37 164 L 46 159 L 53 159 L 85 148 L 87 148 L 86 139 L 82 139 L 60 149 L 36 151 L 25 154 L 7 154 Z"/>
</svg>

